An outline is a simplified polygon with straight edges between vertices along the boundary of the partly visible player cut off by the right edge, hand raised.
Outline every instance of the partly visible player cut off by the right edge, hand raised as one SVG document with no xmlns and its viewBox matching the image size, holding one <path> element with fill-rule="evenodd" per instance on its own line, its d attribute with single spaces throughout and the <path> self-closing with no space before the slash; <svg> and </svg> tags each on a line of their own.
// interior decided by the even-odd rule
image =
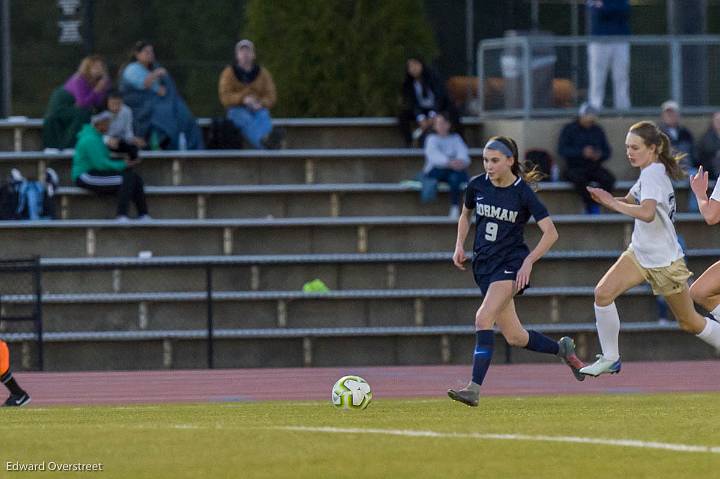
<svg viewBox="0 0 720 479">
<path fill-rule="evenodd" d="M 709 225 L 720 223 L 720 180 L 707 196 L 708 172 L 700 166 L 696 175 L 690 178 L 690 187 L 695 194 L 700 213 Z M 693 300 L 710 311 L 716 320 L 720 320 L 720 261 L 710 266 L 690 287 Z"/>
</svg>

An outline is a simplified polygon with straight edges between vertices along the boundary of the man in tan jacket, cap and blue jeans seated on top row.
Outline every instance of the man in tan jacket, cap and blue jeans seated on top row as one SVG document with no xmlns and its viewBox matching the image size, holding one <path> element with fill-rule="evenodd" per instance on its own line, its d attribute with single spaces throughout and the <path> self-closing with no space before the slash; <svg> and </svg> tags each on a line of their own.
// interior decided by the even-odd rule
<svg viewBox="0 0 720 479">
<path fill-rule="evenodd" d="M 280 147 L 282 133 L 273 128 L 269 111 L 277 99 L 275 83 L 270 72 L 255 63 L 255 45 L 250 40 L 235 45 L 235 63 L 220 74 L 218 93 L 227 117 L 253 148 Z"/>
</svg>

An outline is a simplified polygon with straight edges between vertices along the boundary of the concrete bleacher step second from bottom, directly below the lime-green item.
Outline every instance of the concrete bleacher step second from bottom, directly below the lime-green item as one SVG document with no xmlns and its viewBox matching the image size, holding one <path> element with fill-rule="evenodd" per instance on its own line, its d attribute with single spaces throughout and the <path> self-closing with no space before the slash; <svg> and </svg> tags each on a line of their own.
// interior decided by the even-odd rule
<svg viewBox="0 0 720 479">
<path fill-rule="evenodd" d="M 594 323 L 593 287 L 532 288 L 516 298 L 525 324 Z M 6 314 L 31 305 L 30 297 L 5 296 Z M 476 288 L 299 291 L 222 291 L 213 294 L 218 329 L 441 327 L 473 324 L 482 299 Z M 617 300 L 626 322 L 657 320 L 649 287 Z M 44 331 L 166 331 L 207 325 L 204 292 L 45 294 Z M 31 331 L 31 323 L 13 332 Z"/>
</svg>

